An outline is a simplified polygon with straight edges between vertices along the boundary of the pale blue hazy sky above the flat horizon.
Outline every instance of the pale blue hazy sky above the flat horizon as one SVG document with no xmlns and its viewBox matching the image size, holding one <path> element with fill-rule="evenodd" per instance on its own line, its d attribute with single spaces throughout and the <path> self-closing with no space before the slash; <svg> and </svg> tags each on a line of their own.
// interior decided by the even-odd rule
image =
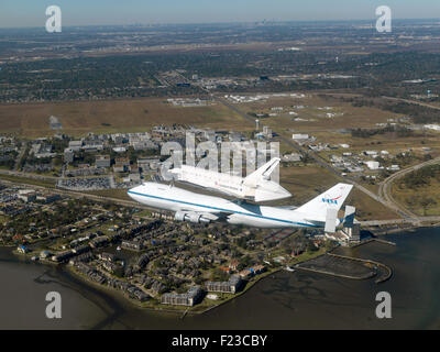
<svg viewBox="0 0 440 352">
<path fill-rule="evenodd" d="M 44 26 L 53 4 L 67 26 L 440 18 L 440 0 L 0 0 L 0 28 Z"/>
</svg>

